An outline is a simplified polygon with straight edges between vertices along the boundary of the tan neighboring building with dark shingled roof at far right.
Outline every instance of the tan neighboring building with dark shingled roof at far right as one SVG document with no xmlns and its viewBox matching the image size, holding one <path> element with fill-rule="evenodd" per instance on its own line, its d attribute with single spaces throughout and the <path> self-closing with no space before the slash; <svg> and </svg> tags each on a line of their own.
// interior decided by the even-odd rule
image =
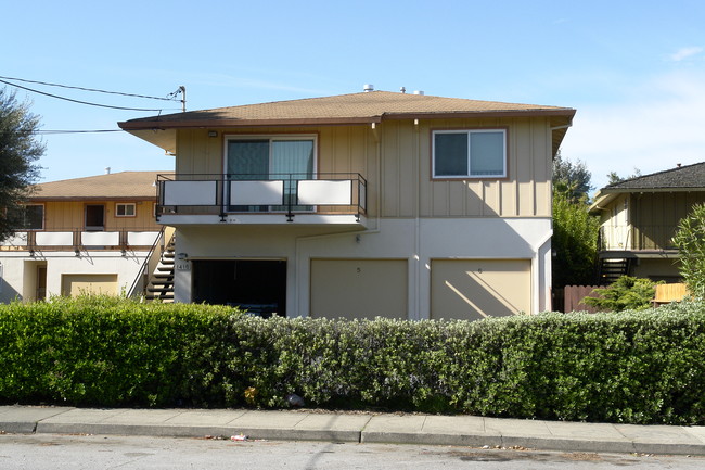
<svg viewBox="0 0 705 470">
<path fill-rule="evenodd" d="M 630 275 L 678 282 L 672 238 L 680 219 L 703 202 L 705 163 L 679 165 L 602 188 L 590 207 L 601 220 L 601 281 Z"/>
</svg>

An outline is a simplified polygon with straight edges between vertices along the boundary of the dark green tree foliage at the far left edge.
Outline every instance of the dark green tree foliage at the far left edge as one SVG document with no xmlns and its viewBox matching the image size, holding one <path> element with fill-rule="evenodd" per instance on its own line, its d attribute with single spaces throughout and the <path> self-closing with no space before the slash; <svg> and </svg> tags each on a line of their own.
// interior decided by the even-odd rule
<svg viewBox="0 0 705 470">
<path fill-rule="evenodd" d="M 36 139 L 39 117 L 15 94 L 0 89 L 0 240 L 22 223 L 21 204 L 39 176 L 44 144 Z"/>
</svg>

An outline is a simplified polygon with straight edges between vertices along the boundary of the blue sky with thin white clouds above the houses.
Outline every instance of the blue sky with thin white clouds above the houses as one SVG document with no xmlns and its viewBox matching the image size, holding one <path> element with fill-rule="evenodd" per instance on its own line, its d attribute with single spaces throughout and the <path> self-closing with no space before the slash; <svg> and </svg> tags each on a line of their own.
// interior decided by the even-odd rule
<svg viewBox="0 0 705 470">
<path fill-rule="evenodd" d="M 4 77 L 153 97 L 183 85 L 190 111 L 358 92 L 364 84 L 575 107 L 562 154 L 585 162 L 598 188 L 610 172 L 705 161 L 701 0 L 40 0 L 0 11 Z M 180 111 L 172 102 L 15 84 Z M 119 120 L 157 114 L 25 90 L 17 98 L 31 101 L 44 130 L 117 129 Z M 174 166 L 124 132 L 42 139 L 42 180 Z"/>
</svg>

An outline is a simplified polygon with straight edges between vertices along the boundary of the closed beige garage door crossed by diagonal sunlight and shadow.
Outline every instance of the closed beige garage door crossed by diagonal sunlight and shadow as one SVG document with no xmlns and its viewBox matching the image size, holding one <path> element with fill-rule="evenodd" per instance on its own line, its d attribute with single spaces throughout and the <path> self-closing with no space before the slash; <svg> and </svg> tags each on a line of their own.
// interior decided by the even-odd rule
<svg viewBox="0 0 705 470">
<path fill-rule="evenodd" d="M 433 259 L 431 317 L 476 320 L 530 312 L 529 259 Z"/>
</svg>

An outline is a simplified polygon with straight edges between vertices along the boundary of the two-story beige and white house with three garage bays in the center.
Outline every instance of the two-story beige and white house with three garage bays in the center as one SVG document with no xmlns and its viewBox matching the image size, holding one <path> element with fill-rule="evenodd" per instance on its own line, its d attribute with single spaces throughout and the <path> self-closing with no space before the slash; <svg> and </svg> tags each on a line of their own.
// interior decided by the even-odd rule
<svg viewBox="0 0 705 470">
<path fill-rule="evenodd" d="M 567 107 L 368 91 L 131 119 L 176 155 L 177 302 L 289 317 L 551 308 Z"/>
</svg>

